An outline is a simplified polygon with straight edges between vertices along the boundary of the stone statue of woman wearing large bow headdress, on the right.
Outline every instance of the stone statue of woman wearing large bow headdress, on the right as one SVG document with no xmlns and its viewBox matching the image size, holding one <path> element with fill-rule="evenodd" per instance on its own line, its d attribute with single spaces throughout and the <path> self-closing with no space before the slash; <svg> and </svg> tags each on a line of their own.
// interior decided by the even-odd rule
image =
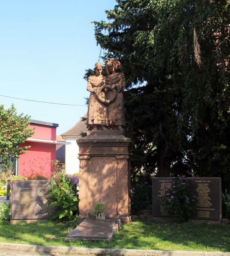
<svg viewBox="0 0 230 256">
<path fill-rule="evenodd" d="M 122 125 L 125 125 L 124 117 L 124 100 L 122 90 L 126 88 L 125 76 L 121 73 L 122 65 L 116 58 L 106 60 L 106 84 L 112 89 L 117 89 L 117 97 L 115 101 L 107 105 L 107 120 L 110 124 L 113 121 L 114 130 L 123 130 Z M 111 99 L 113 92 L 108 90 L 106 99 Z"/>
</svg>

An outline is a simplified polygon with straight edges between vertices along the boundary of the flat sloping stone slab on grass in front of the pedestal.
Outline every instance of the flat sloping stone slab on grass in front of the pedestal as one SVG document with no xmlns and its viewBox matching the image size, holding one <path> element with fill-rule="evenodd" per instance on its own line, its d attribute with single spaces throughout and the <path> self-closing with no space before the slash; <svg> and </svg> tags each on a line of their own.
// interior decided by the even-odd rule
<svg viewBox="0 0 230 256">
<path fill-rule="evenodd" d="M 74 229 L 65 241 L 72 240 L 104 240 L 110 242 L 112 236 L 120 229 L 121 220 L 117 218 L 107 218 L 96 220 L 93 217 L 85 218 L 76 229 Z"/>
</svg>

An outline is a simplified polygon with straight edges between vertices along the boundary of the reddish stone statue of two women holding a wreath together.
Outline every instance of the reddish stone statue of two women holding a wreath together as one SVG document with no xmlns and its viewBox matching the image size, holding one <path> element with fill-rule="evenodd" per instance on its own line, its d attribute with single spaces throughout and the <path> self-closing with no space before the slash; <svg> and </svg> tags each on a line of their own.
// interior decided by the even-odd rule
<svg viewBox="0 0 230 256">
<path fill-rule="evenodd" d="M 86 124 L 93 131 L 123 130 L 125 125 L 124 100 L 122 90 L 126 88 L 125 76 L 121 73 L 122 65 L 116 58 L 106 60 L 107 76 L 102 76 L 103 65 L 95 64 L 95 74 L 89 76 L 87 90 L 90 92 L 88 119 Z"/>
</svg>

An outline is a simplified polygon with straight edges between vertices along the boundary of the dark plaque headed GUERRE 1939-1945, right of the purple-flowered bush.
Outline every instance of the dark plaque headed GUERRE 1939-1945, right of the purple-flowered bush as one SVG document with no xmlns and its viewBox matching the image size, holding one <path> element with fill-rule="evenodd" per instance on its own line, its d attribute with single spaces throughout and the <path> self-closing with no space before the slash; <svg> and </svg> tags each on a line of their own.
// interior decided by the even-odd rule
<svg viewBox="0 0 230 256">
<path fill-rule="evenodd" d="M 221 178 L 188 178 L 191 192 L 197 196 L 196 211 L 190 219 L 221 220 Z"/>
</svg>

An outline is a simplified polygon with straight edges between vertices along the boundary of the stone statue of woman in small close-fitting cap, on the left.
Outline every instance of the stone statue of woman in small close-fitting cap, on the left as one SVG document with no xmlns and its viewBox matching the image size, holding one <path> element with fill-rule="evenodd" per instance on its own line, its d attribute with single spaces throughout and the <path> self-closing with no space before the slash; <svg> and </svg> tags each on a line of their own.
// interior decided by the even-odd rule
<svg viewBox="0 0 230 256">
<path fill-rule="evenodd" d="M 105 84 L 105 76 L 101 75 L 103 66 L 101 62 L 95 64 L 95 74 L 89 76 L 87 91 L 90 92 L 89 96 L 89 107 L 88 107 L 88 119 L 86 124 L 93 127 L 93 131 L 97 130 L 107 130 L 105 125 L 107 125 L 106 117 L 106 105 L 99 101 L 96 97 L 96 93 L 99 87 Z M 105 99 L 105 92 L 101 92 L 101 97 Z"/>
</svg>

